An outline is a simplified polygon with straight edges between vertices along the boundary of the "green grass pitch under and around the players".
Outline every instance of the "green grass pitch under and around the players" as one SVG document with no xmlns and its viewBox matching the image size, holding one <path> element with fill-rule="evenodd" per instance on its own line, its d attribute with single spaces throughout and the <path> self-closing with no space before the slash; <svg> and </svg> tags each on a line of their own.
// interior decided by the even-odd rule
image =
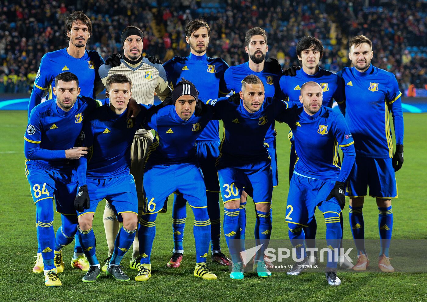
<svg viewBox="0 0 427 302">
<path fill-rule="evenodd" d="M 393 202 L 393 239 L 427 239 L 425 219 L 425 183 L 427 181 L 427 114 L 404 114 L 405 162 L 397 173 L 399 198 Z M 36 253 L 35 206 L 24 175 L 23 134 L 26 129 L 26 112 L 0 111 L 0 300 L 1 301 L 426 301 L 427 273 L 356 273 L 339 270 L 342 285 L 329 287 L 322 273 L 303 273 L 290 277 L 273 273 L 261 279 L 246 274 L 243 280 L 231 280 L 228 270 L 208 265 L 217 274 L 216 281 L 204 281 L 193 276 L 195 249 L 192 234 L 193 214 L 188 211 L 184 237 L 185 255 L 181 267 L 168 269 L 171 256 L 171 213 L 160 214 L 152 254 L 152 278 L 148 282 L 135 282 L 136 271 L 129 269 L 128 253 L 123 259 L 125 273 L 130 282 L 120 283 L 107 278 L 105 273 L 94 284 L 81 281 L 82 271 L 72 269 L 70 260 L 73 247 L 64 248 L 66 262 L 60 279 L 61 288 L 47 288 L 41 274 L 32 273 Z M 289 142 L 288 127 L 277 124 L 277 149 L 280 184 L 273 193 L 272 239 L 287 239 L 284 223 L 288 190 Z M 248 203 L 249 209 L 252 205 Z M 171 206 L 169 207 L 172 208 Z M 221 208 L 223 209 L 222 205 Z M 94 219 L 97 235 L 97 255 L 100 261 L 106 256 L 106 242 L 102 226 L 103 204 L 100 203 Z M 253 238 L 254 215 L 248 211 L 247 238 Z M 319 214 L 319 211 L 316 212 Z M 367 239 L 378 238 L 377 208 L 373 198 L 368 198 L 364 209 Z M 348 227 L 348 207 L 345 218 L 344 239 L 351 239 Z M 60 225 L 55 215 L 55 230 Z M 317 215 L 318 236 L 325 238 L 325 224 Z M 225 239 L 222 247 L 227 252 Z M 391 257 L 393 251 L 390 251 Z M 420 250 L 420 253 L 425 251 Z M 377 259 L 371 253 L 371 267 Z"/>
</svg>

